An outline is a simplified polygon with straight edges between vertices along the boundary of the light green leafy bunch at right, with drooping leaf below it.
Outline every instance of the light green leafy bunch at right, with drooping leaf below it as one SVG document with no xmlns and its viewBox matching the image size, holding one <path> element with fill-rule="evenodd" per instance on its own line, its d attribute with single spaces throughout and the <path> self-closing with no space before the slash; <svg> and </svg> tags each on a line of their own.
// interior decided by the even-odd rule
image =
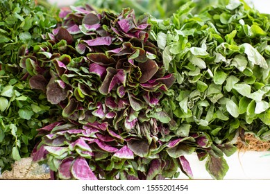
<svg viewBox="0 0 270 194">
<path fill-rule="evenodd" d="M 167 114 L 185 132 L 209 134 L 213 145 L 233 144 L 239 129 L 269 140 L 269 15 L 239 1 L 199 15 L 192 8 L 187 3 L 170 19 L 151 19 L 151 38 L 162 49 L 165 69 L 176 75 L 162 101 Z M 226 155 L 230 144 L 223 147 Z M 215 179 L 228 170 L 221 158 L 215 148 L 216 164 L 206 163 Z"/>
</svg>

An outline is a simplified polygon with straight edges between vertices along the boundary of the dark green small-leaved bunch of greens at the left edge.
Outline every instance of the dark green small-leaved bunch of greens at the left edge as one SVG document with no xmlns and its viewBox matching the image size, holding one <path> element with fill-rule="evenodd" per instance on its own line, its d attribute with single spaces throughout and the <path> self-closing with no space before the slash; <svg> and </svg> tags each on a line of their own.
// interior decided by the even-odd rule
<svg viewBox="0 0 270 194">
<path fill-rule="evenodd" d="M 0 168 L 28 157 L 36 129 L 50 123 L 53 107 L 32 91 L 19 67 L 19 56 L 42 40 L 41 34 L 56 26 L 55 10 L 34 1 L 0 2 Z M 51 112 L 49 111 L 51 109 Z"/>
</svg>

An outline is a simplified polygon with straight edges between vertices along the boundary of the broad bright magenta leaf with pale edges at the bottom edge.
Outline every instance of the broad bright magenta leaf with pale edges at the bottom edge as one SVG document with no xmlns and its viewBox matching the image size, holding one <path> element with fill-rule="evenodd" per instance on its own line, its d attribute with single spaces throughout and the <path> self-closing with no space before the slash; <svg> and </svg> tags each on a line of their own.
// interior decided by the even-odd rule
<svg viewBox="0 0 270 194">
<path fill-rule="evenodd" d="M 78 157 L 72 167 L 71 174 L 79 180 L 97 180 L 87 161 L 83 157 Z"/>
</svg>

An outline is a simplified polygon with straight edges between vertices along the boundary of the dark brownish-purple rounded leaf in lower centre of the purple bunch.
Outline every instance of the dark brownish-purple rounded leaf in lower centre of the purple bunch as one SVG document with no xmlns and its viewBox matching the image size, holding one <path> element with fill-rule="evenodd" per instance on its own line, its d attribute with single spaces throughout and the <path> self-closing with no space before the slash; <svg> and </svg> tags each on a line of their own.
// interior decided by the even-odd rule
<svg viewBox="0 0 270 194">
<path fill-rule="evenodd" d="M 146 157 L 149 154 L 149 144 L 144 139 L 130 139 L 128 148 L 140 157 Z"/>
</svg>

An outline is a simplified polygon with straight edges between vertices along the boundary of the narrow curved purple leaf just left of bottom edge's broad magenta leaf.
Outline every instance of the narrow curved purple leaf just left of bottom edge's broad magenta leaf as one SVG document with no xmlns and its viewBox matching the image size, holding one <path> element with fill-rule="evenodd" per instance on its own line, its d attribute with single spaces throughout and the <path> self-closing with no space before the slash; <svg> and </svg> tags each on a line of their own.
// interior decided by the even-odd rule
<svg viewBox="0 0 270 194">
<path fill-rule="evenodd" d="M 58 169 L 58 176 L 60 179 L 68 180 L 72 178 L 71 175 L 71 165 L 73 163 L 74 159 L 72 157 L 68 157 L 66 159 L 63 159 L 59 169 Z"/>
</svg>

